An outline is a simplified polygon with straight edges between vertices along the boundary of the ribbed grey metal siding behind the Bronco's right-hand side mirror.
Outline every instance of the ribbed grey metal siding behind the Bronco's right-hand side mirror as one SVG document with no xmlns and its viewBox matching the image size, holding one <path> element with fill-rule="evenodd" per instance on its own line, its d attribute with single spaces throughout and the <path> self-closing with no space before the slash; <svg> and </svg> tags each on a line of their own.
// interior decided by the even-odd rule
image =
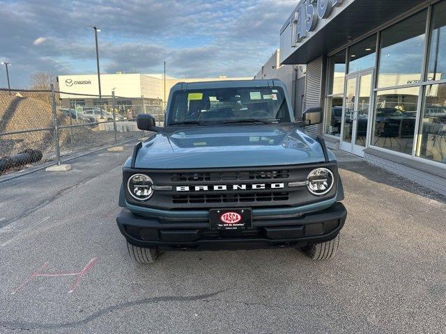
<svg viewBox="0 0 446 334">
<path fill-rule="evenodd" d="M 305 108 L 322 106 L 321 83 L 323 79 L 323 57 L 317 58 L 307 65 L 305 76 Z M 310 125 L 305 127 L 309 134 L 321 134 L 321 125 Z"/>
</svg>

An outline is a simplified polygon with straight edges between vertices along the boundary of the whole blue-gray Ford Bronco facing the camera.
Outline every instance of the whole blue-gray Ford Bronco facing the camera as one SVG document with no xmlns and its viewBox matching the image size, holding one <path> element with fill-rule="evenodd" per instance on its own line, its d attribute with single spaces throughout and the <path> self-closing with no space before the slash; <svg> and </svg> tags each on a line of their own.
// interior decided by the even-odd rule
<svg viewBox="0 0 446 334">
<path fill-rule="evenodd" d="M 334 154 L 303 129 L 322 117 L 296 120 L 276 79 L 176 84 L 163 127 L 137 116 L 150 137 L 123 166 L 116 221 L 130 256 L 291 246 L 332 257 L 344 191 Z"/>
</svg>

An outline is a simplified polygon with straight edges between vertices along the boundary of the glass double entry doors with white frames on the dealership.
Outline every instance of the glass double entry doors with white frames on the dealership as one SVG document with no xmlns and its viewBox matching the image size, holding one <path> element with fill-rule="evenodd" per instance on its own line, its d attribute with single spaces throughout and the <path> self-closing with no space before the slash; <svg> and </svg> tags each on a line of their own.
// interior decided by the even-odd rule
<svg viewBox="0 0 446 334">
<path fill-rule="evenodd" d="M 346 77 L 341 150 L 360 157 L 364 157 L 364 148 L 367 143 L 373 77 L 374 70 L 367 70 Z"/>
</svg>

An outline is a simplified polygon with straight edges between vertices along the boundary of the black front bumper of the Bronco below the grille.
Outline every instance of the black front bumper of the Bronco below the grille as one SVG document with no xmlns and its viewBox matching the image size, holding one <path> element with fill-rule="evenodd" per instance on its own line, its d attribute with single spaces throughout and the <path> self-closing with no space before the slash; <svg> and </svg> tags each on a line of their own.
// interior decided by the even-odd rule
<svg viewBox="0 0 446 334">
<path fill-rule="evenodd" d="M 121 209 L 116 221 L 130 244 L 159 248 L 266 248 L 298 246 L 333 239 L 346 221 L 347 211 L 340 202 L 328 209 L 293 218 L 259 218 L 252 228 L 238 231 L 209 229 L 208 221 L 162 221 Z"/>
</svg>

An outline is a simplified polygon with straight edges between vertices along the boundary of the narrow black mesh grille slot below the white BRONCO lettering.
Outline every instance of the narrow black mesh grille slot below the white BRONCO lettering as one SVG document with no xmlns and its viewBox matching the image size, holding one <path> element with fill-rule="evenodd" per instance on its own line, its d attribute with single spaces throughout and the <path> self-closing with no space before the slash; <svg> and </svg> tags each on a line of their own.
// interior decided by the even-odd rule
<svg viewBox="0 0 446 334">
<path fill-rule="evenodd" d="M 174 204 L 237 203 L 237 202 L 279 202 L 289 200 L 289 193 L 218 193 L 199 195 L 174 195 Z"/>
</svg>

